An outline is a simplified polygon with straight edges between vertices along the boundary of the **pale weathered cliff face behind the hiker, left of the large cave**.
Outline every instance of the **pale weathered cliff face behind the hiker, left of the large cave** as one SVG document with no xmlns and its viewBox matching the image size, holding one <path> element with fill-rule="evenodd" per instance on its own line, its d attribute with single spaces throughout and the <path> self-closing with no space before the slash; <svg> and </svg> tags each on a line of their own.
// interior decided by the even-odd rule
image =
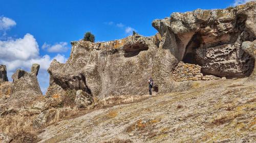
<svg viewBox="0 0 256 143">
<path fill-rule="evenodd" d="M 66 64 L 53 61 L 48 69 L 47 96 L 68 89 L 82 90 L 93 96 L 143 95 L 152 76 L 159 92 L 170 92 L 172 69 L 177 59 L 169 50 L 158 48 L 159 35 L 129 36 L 122 40 L 91 43 L 72 42 Z"/>
</svg>

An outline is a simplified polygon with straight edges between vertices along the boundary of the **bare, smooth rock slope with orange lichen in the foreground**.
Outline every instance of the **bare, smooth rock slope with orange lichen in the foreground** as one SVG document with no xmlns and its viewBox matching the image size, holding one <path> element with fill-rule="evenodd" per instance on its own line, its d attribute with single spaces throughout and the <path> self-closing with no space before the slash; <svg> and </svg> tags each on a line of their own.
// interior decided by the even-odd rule
<svg viewBox="0 0 256 143">
<path fill-rule="evenodd" d="M 232 83 L 232 84 L 230 84 Z M 40 142 L 253 142 L 256 82 L 198 81 L 190 91 L 116 105 L 51 125 Z"/>
</svg>

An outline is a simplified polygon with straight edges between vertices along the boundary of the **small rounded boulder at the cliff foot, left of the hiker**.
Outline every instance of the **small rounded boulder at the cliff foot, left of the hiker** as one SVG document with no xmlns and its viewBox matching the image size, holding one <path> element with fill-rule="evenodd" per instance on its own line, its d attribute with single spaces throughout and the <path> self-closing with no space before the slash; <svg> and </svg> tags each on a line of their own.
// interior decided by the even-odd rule
<svg viewBox="0 0 256 143">
<path fill-rule="evenodd" d="M 78 90 L 76 92 L 75 103 L 78 108 L 84 108 L 93 103 L 93 98 L 91 95 L 87 94 L 86 92 L 82 90 Z"/>
</svg>

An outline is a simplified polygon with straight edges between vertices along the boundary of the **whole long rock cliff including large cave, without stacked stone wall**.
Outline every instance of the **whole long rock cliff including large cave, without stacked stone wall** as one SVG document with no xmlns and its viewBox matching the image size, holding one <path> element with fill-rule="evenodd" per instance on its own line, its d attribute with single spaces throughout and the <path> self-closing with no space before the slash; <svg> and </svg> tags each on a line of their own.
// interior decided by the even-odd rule
<svg viewBox="0 0 256 143">
<path fill-rule="evenodd" d="M 98 97 L 147 94 L 152 76 L 155 93 L 177 89 L 173 70 L 178 62 L 201 66 L 205 78 L 250 76 L 255 58 L 241 48 L 255 40 L 255 2 L 224 10 L 173 13 L 154 20 L 159 34 L 138 34 L 109 42 L 73 41 L 65 64 L 54 60 L 48 72 L 47 96 L 82 90 Z M 183 81 L 183 80 L 182 80 Z M 174 88 L 176 87 L 176 89 Z"/>
</svg>

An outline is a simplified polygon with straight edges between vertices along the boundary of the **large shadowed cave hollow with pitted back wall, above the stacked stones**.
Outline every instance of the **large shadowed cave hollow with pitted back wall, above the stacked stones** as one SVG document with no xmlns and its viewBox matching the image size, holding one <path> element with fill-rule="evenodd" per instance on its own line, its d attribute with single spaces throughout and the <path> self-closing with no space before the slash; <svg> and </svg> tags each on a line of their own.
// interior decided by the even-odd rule
<svg viewBox="0 0 256 143">
<path fill-rule="evenodd" d="M 196 33 L 188 42 L 182 61 L 202 66 L 201 73 L 204 75 L 247 77 L 253 71 L 255 59 L 235 45 L 251 40 L 250 37 L 243 37 L 239 41 L 238 37 L 239 34 L 234 33 L 223 34 L 220 37 Z"/>
</svg>

